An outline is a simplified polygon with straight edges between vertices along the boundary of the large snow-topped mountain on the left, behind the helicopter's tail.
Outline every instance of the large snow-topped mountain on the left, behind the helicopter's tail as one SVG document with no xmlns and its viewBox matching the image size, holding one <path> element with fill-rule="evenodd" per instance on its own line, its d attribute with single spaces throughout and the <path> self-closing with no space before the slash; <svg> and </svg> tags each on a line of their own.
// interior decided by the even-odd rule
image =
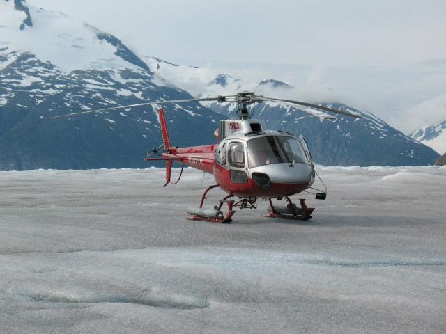
<svg viewBox="0 0 446 334">
<path fill-rule="evenodd" d="M 40 117 L 190 97 L 113 35 L 24 0 L 0 0 L 0 170 L 146 167 L 146 150 L 161 141 L 156 108 Z M 166 109 L 172 143 L 213 141 L 209 125 L 220 114 L 198 103 Z"/>
</svg>

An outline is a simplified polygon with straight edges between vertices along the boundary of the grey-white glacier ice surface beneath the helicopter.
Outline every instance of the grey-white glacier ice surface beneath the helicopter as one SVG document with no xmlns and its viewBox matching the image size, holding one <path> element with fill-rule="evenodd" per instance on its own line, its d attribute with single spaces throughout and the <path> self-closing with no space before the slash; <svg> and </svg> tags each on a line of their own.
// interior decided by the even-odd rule
<svg viewBox="0 0 446 334">
<path fill-rule="evenodd" d="M 190 168 L 0 172 L 0 332 L 445 333 L 446 168 L 318 170 L 312 220 L 228 225 Z"/>
</svg>

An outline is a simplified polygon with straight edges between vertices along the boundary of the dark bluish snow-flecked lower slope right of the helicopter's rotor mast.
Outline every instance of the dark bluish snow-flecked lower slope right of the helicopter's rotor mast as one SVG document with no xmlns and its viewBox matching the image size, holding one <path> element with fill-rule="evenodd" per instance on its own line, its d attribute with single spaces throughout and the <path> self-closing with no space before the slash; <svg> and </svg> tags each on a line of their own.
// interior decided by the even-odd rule
<svg viewBox="0 0 446 334">
<path fill-rule="evenodd" d="M 438 157 L 431 148 L 371 113 L 340 103 L 321 104 L 357 113 L 363 118 L 340 115 L 335 120 L 320 120 L 298 108 L 272 102 L 256 106 L 253 117 L 265 119 L 270 129 L 302 134 L 313 159 L 325 166 L 419 166 L 432 164 Z M 228 113 L 221 106 L 220 112 Z"/>
</svg>

